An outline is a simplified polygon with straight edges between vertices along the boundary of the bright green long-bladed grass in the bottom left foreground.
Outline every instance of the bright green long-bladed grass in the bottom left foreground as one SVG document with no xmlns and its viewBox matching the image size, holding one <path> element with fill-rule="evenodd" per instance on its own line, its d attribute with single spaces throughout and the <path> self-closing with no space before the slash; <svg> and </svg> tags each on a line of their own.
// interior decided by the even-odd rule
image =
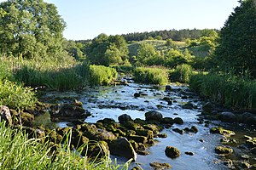
<svg viewBox="0 0 256 170">
<path fill-rule="evenodd" d="M 111 163 L 108 156 L 98 161 L 81 157 L 80 149 L 70 149 L 68 138 L 53 152 L 50 144 L 28 139 L 26 133 L 6 127 L 3 122 L 0 135 L 0 169 L 128 169 L 128 164 L 121 168 Z"/>
</svg>

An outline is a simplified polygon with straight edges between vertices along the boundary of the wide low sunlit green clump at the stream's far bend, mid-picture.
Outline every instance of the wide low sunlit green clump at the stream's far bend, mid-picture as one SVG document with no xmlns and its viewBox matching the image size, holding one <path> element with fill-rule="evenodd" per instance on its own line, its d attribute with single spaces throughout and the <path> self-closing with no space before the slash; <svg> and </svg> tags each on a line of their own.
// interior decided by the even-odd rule
<svg viewBox="0 0 256 170">
<path fill-rule="evenodd" d="M 134 70 L 134 80 L 136 82 L 166 85 L 168 83 L 168 74 L 166 69 L 137 67 Z"/>
</svg>

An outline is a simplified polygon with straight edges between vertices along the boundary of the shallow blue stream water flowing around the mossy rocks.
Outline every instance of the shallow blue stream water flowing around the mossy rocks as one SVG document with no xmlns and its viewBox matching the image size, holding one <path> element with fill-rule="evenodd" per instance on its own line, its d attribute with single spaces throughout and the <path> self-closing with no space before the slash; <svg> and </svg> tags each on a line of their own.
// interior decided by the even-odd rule
<svg viewBox="0 0 256 170">
<path fill-rule="evenodd" d="M 135 98 L 134 94 L 141 92 L 141 97 Z M 159 111 L 164 117 L 181 117 L 183 125 L 174 124 L 171 128 L 165 128 L 161 133 L 166 133 L 166 139 L 158 139 L 159 142 L 148 148 L 148 156 L 137 156 L 137 161 L 132 162 L 130 167 L 139 165 L 143 169 L 154 169 L 149 166 L 150 162 L 167 162 L 172 165 L 172 169 L 228 169 L 223 162 L 218 160 L 214 153 L 216 145 L 220 144 L 221 136 L 209 133 L 210 127 L 205 127 L 205 123 L 199 123 L 201 114 L 201 99 L 189 92 L 186 86 L 172 86 L 172 92 L 165 92 L 164 88 L 149 85 L 130 83 L 129 86 L 98 87 L 90 88 L 78 93 L 53 92 L 44 96 L 44 99 L 61 99 L 63 97 L 76 98 L 82 101 L 85 110 L 91 112 L 92 116 L 85 119 L 85 122 L 96 122 L 103 118 L 113 118 L 118 122 L 118 116 L 128 114 L 132 119 L 144 119 L 146 111 Z M 163 100 L 164 97 L 172 98 L 173 104 Z M 63 99 L 65 102 L 65 99 Z M 192 103 L 193 109 L 183 109 L 186 103 Z M 42 119 L 40 117 L 38 120 Z M 44 117 L 44 121 L 49 119 Z M 46 121 L 47 122 L 47 121 Z M 47 123 L 50 124 L 50 121 Z M 51 124 L 52 125 L 52 124 Z M 58 122 L 55 126 L 65 127 L 68 122 Z M 184 128 L 195 126 L 198 133 L 179 134 L 172 131 L 172 128 Z M 255 131 L 253 132 L 255 134 Z M 242 135 L 242 130 L 241 130 Z M 176 159 L 168 158 L 165 155 L 166 146 L 175 146 L 181 151 L 181 156 Z M 194 156 L 188 156 L 184 152 L 193 152 Z M 125 163 L 124 158 L 117 158 L 119 163 Z"/>
</svg>

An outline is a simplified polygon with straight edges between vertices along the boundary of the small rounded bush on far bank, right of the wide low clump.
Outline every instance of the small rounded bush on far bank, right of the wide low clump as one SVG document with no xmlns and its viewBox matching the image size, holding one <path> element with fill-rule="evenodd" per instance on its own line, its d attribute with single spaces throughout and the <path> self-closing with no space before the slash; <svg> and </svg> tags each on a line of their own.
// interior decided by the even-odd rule
<svg viewBox="0 0 256 170">
<path fill-rule="evenodd" d="M 188 83 L 189 78 L 192 76 L 193 70 L 191 65 L 183 64 L 177 65 L 176 69 L 169 71 L 171 82 Z"/>
</svg>

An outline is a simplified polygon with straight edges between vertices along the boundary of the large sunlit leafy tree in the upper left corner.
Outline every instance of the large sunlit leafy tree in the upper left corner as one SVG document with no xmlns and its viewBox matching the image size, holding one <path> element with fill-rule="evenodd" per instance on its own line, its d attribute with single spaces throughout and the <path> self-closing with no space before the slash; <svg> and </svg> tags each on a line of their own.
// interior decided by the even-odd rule
<svg viewBox="0 0 256 170">
<path fill-rule="evenodd" d="M 43 0 L 9 0 L 0 3 L 0 53 L 25 58 L 61 52 L 65 22 L 54 4 Z"/>
</svg>

